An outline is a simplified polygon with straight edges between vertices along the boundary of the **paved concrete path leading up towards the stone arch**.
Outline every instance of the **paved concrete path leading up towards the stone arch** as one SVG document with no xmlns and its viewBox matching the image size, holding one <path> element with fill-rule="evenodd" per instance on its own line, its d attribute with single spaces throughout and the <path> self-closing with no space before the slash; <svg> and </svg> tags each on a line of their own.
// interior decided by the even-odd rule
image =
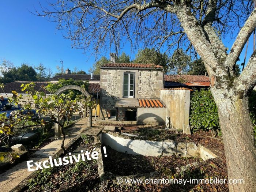
<svg viewBox="0 0 256 192">
<path fill-rule="evenodd" d="M 72 127 L 65 130 L 65 133 L 68 135 L 65 138 L 65 145 L 67 147 L 70 143 L 75 142 L 75 138 L 77 136 L 86 131 L 86 119 L 82 118 L 80 121 L 75 123 Z M 33 162 L 45 161 L 48 156 L 52 156 L 59 151 L 61 139 L 54 140 L 49 143 L 45 147 L 42 147 L 40 150 L 36 151 L 29 160 L 33 160 Z M 33 167 L 34 168 L 34 167 Z M 15 165 L 11 169 L 8 169 L 6 172 L 0 174 L 0 191 L 1 192 L 9 192 L 14 189 L 20 182 L 29 177 L 33 172 L 29 172 L 27 169 L 27 162 L 19 163 Z"/>
</svg>

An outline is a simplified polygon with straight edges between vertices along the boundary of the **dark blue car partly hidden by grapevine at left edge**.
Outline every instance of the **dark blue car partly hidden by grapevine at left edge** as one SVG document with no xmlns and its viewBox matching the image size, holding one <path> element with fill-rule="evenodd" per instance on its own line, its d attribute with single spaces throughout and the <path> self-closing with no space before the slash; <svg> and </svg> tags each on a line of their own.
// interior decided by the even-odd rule
<svg viewBox="0 0 256 192">
<path fill-rule="evenodd" d="M 16 110 L 22 110 L 22 107 L 20 105 L 15 105 L 14 103 L 9 103 L 8 98 L 0 99 L 0 114 L 6 113 L 6 117 L 9 118 L 12 115 L 11 112 Z M 28 110 L 23 110 L 23 114 L 27 114 L 27 112 Z M 32 119 L 38 118 L 34 109 L 31 109 L 30 112 L 34 114 Z"/>
</svg>

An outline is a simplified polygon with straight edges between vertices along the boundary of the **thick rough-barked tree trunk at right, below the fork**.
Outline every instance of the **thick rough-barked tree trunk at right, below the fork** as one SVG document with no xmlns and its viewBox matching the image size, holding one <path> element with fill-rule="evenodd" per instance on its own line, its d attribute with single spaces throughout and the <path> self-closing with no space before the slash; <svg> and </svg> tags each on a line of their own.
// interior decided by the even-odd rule
<svg viewBox="0 0 256 192">
<path fill-rule="evenodd" d="M 229 180 L 229 191 L 251 192 L 256 189 L 256 148 L 248 110 L 248 97 L 227 97 L 230 91 L 211 89 L 218 106 Z M 229 92 L 229 93 L 228 93 Z"/>
</svg>

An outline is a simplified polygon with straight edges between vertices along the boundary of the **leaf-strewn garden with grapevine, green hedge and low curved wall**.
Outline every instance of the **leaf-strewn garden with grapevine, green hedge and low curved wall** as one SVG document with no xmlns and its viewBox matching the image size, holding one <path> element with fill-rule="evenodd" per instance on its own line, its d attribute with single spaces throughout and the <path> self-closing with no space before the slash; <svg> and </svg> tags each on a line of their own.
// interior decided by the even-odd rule
<svg viewBox="0 0 256 192">
<path fill-rule="evenodd" d="M 10 146 L 13 142 L 1 147 L 1 171 L 15 166 L 32 157 L 34 152 L 53 141 L 53 123 L 58 123 L 54 116 L 49 117 L 49 109 L 56 109 L 51 106 L 47 98 L 40 97 L 35 93 L 32 85 L 26 85 L 35 96 L 34 101 L 45 103 L 45 106 L 37 108 L 38 112 L 48 115 L 48 122 L 41 118 L 40 121 L 28 121 L 22 114 L 14 116 L 14 119 L 2 119 L 6 128 L 5 131 L 12 131 L 12 136 L 25 132 L 35 132 L 38 139 L 35 142 L 23 143 L 26 147 L 25 154 L 11 152 Z M 18 98 L 20 97 L 17 93 Z M 79 120 L 71 120 L 72 112 L 81 108 L 75 103 L 74 95 L 67 93 L 56 98 L 59 103 L 57 117 L 69 119 L 61 122 L 62 133 L 68 137 L 68 128 L 72 129 Z M 79 97 L 79 96 L 78 96 Z M 255 97 L 253 92 L 250 102 L 252 123 L 255 125 Z M 76 98 L 76 97 L 75 97 Z M 80 98 L 80 97 L 79 97 Z M 13 100 L 12 100 L 13 99 Z M 12 102 L 19 102 L 12 98 Z M 57 100 L 58 99 L 58 100 Z M 62 99 L 62 100 L 61 100 Z M 64 102 L 65 101 L 65 102 Z M 73 102 L 73 103 L 72 103 Z M 86 105 L 93 107 L 93 103 Z M 65 104 L 68 108 L 65 108 Z M 54 104 L 56 105 L 56 103 Z M 75 106 L 74 108 L 72 106 Z M 31 106 L 23 105 L 26 108 Z M 54 108 L 54 109 L 53 109 Z M 65 108 L 65 113 L 62 108 Z M 52 113 L 52 111 L 50 112 Z M 33 116 L 33 115 L 31 115 Z M 23 118 L 22 120 L 18 120 Z M 8 122 L 9 121 L 9 122 Z M 79 154 L 81 150 L 95 150 L 95 146 L 102 155 L 99 159 L 90 161 L 78 161 L 68 165 L 54 166 L 33 173 L 28 182 L 18 186 L 19 191 L 229 191 L 228 184 L 208 183 L 150 183 L 145 184 L 148 178 L 161 180 L 190 180 L 214 178 L 227 179 L 226 158 L 218 123 L 218 110 L 209 90 L 194 90 L 191 96 L 190 122 L 192 134 L 187 135 L 182 130 L 165 129 L 163 125 L 125 125 L 101 124 L 102 131 L 98 136 L 80 135 L 68 148 L 64 148 L 56 157 L 63 158 L 65 155 Z M 16 123 L 17 122 L 17 123 Z M 40 126 L 38 126 L 40 122 Z M 15 128 L 7 125 L 15 124 Z M 23 125 L 22 129 L 18 129 Z M 24 128 L 24 125 L 27 127 Z M 48 126 L 47 126 L 48 125 Z M 22 127 L 22 126 L 21 126 Z M 96 123 L 93 127 L 99 127 Z M 104 128 L 104 129 L 103 129 Z M 255 127 L 254 127 L 255 129 Z M 2 129 L 3 130 L 3 129 Z M 10 132 L 9 132 L 10 133 Z M 39 137 L 40 136 L 40 137 Z M 52 138 L 52 139 L 51 139 Z M 111 140 L 110 140 L 110 139 Z M 64 141 L 63 141 L 64 142 Z M 106 151 L 103 147 L 106 147 Z M 5 150 L 5 151 L 3 151 Z M 121 184 L 118 178 L 123 181 L 137 179 L 143 182 L 136 184 Z"/>
</svg>

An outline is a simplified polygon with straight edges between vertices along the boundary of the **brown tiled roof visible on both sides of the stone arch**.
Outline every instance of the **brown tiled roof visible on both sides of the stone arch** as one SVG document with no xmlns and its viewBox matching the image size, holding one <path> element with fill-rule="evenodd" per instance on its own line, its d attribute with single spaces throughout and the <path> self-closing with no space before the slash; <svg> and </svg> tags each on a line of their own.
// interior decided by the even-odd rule
<svg viewBox="0 0 256 192">
<path fill-rule="evenodd" d="M 15 82 L 11 82 L 11 83 L 6 83 L 6 84 L 4 84 L 4 93 L 12 93 L 12 91 L 17 91 L 18 93 L 25 93 L 26 92 L 26 90 L 25 91 L 22 91 L 21 89 L 21 84 L 27 84 L 27 83 L 31 83 L 31 81 L 29 82 L 29 81 L 15 81 Z M 43 92 L 45 92 L 45 94 L 50 94 L 50 92 L 49 91 L 47 91 L 47 90 L 44 90 L 43 88 L 42 88 L 42 86 L 47 86 L 48 85 L 48 83 L 50 83 L 50 82 L 34 82 L 35 83 L 35 90 L 36 91 L 43 91 Z M 94 89 L 94 93 L 97 93 L 97 89 L 100 89 L 100 85 L 99 85 L 99 83 L 90 83 L 89 84 L 89 87 L 88 87 L 88 93 L 93 93 L 93 89 Z M 0 90 L 0 93 L 1 92 L 3 92 L 2 90 Z"/>
</svg>

